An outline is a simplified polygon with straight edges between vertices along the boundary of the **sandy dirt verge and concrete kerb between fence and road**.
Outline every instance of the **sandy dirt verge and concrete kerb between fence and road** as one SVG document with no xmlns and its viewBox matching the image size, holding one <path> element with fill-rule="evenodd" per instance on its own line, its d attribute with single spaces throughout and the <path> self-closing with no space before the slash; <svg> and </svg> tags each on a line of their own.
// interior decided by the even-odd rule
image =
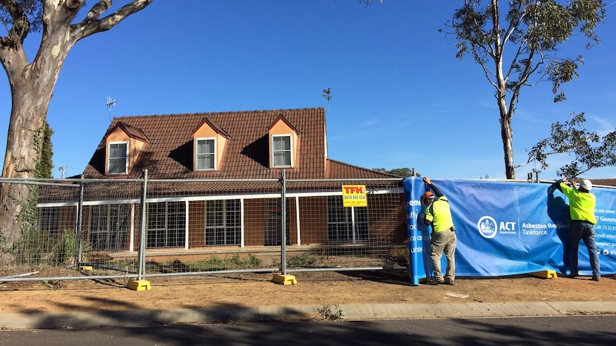
<svg viewBox="0 0 616 346">
<path fill-rule="evenodd" d="M 5 287 L 0 292 L 0 330 L 616 315 L 616 277 L 612 275 L 600 283 L 587 278 L 502 278 L 462 279 L 455 286 L 437 287 L 409 287 L 404 276 L 380 272 L 359 277 L 306 273 L 297 285 L 277 285 L 267 278 L 159 279 L 144 292 L 96 280 L 80 282 L 79 288 L 65 282 L 56 290 Z M 452 291 L 465 294 L 457 297 Z"/>
</svg>

